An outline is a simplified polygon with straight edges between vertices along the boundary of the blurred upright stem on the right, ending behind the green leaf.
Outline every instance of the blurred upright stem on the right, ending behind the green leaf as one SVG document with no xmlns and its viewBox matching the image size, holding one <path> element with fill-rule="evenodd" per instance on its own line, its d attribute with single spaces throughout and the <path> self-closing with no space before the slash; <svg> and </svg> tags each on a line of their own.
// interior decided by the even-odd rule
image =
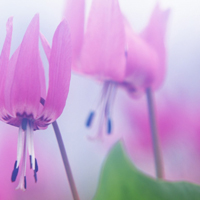
<svg viewBox="0 0 200 200">
<path fill-rule="evenodd" d="M 149 110 L 149 122 L 151 126 L 151 135 L 152 135 L 152 142 L 153 142 L 156 177 L 159 179 L 163 179 L 164 178 L 163 159 L 162 159 L 162 153 L 161 153 L 161 148 L 160 148 L 160 143 L 159 143 L 153 93 L 152 93 L 151 88 L 146 89 L 146 95 L 147 95 L 147 104 L 148 104 L 148 110 Z"/>
</svg>

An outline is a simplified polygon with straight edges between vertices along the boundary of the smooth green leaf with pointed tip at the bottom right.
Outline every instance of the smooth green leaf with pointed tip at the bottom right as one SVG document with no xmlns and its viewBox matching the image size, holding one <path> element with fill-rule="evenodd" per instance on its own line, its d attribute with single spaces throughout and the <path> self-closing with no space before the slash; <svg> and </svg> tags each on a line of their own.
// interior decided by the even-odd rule
<svg viewBox="0 0 200 200">
<path fill-rule="evenodd" d="M 200 186 L 153 179 L 133 166 L 121 143 L 111 150 L 93 200 L 200 200 Z"/>
</svg>

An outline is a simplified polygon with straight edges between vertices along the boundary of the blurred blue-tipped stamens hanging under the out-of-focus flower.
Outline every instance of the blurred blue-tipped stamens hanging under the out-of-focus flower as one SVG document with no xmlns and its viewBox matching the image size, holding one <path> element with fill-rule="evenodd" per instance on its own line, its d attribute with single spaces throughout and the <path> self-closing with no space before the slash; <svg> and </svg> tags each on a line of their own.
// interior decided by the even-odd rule
<svg viewBox="0 0 200 200">
<path fill-rule="evenodd" d="M 96 109 L 90 112 L 89 117 L 86 121 L 86 126 L 91 127 L 94 116 L 95 116 L 95 112 L 99 109 L 99 107 L 101 107 L 98 136 L 101 136 L 103 134 L 102 127 L 104 123 L 106 123 L 107 133 L 110 134 L 112 132 L 111 115 L 112 115 L 114 98 L 116 94 L 116 88 L 117 88 L 117 84 L 115 82 L 105 81 L 103 85 L 100 101 L 97 104 Z"/>
</svg>

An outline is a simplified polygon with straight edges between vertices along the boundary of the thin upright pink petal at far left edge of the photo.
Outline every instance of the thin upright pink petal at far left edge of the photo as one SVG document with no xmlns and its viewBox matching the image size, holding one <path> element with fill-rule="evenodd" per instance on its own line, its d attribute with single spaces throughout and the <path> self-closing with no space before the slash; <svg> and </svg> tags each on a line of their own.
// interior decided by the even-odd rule
<svg viewBox="0 0 200 200">
<path fill-rule="evenodd" d="M 8 19 L 6 24 L 6 29 L 7 29 L 7 34 L 0 57 L 0 110 L 2 112 L 5 106 L 5 101 L 4 101 L 4 85 L 6 80 L 5 71 L 9 63 L 10 46 L 11 46 L 12 30 L 13 30 L 13 17 L 10 17 Z M 2 113 L 2 115 L 4 114 Z"/>
</svg>

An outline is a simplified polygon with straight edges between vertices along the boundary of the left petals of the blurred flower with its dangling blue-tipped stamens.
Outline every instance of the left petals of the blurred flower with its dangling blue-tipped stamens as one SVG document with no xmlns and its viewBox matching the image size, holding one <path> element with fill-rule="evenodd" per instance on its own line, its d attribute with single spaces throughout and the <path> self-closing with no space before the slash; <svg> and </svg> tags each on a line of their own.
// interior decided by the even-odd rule
<svg viewBox="0 0 200 200">
<path fill-rule="evenodd" d="M 123 18 L 117 0 L 94 0 L 84 34 L 84 6 L 80 6 L 79 2 L 84 4 L 84 1 L 68 0 L 65 12 L 71 34 L 77 36 L 77 40 L 72 40 L 72 48 L 78 46 L 78 41 L 82 42 L 80 49 L 73 51 L 73 59 L 76 60 L 73 61 L 72 69 L 104 82 L 98 106 L 103 106 L 102 123 L 107 121 L 107 132 L 111 133 L 111 103 L 116 93 L 116 83 L 123 81 L 126 64 Z M 76 13 L 70 12 L 71 9 L 76 10 Z M 74 27 L 79 27 L 78 33 Z M 91 112 L 86 123 L 88 127 L 93 117 L 94 112 Z"/>
</svg>

